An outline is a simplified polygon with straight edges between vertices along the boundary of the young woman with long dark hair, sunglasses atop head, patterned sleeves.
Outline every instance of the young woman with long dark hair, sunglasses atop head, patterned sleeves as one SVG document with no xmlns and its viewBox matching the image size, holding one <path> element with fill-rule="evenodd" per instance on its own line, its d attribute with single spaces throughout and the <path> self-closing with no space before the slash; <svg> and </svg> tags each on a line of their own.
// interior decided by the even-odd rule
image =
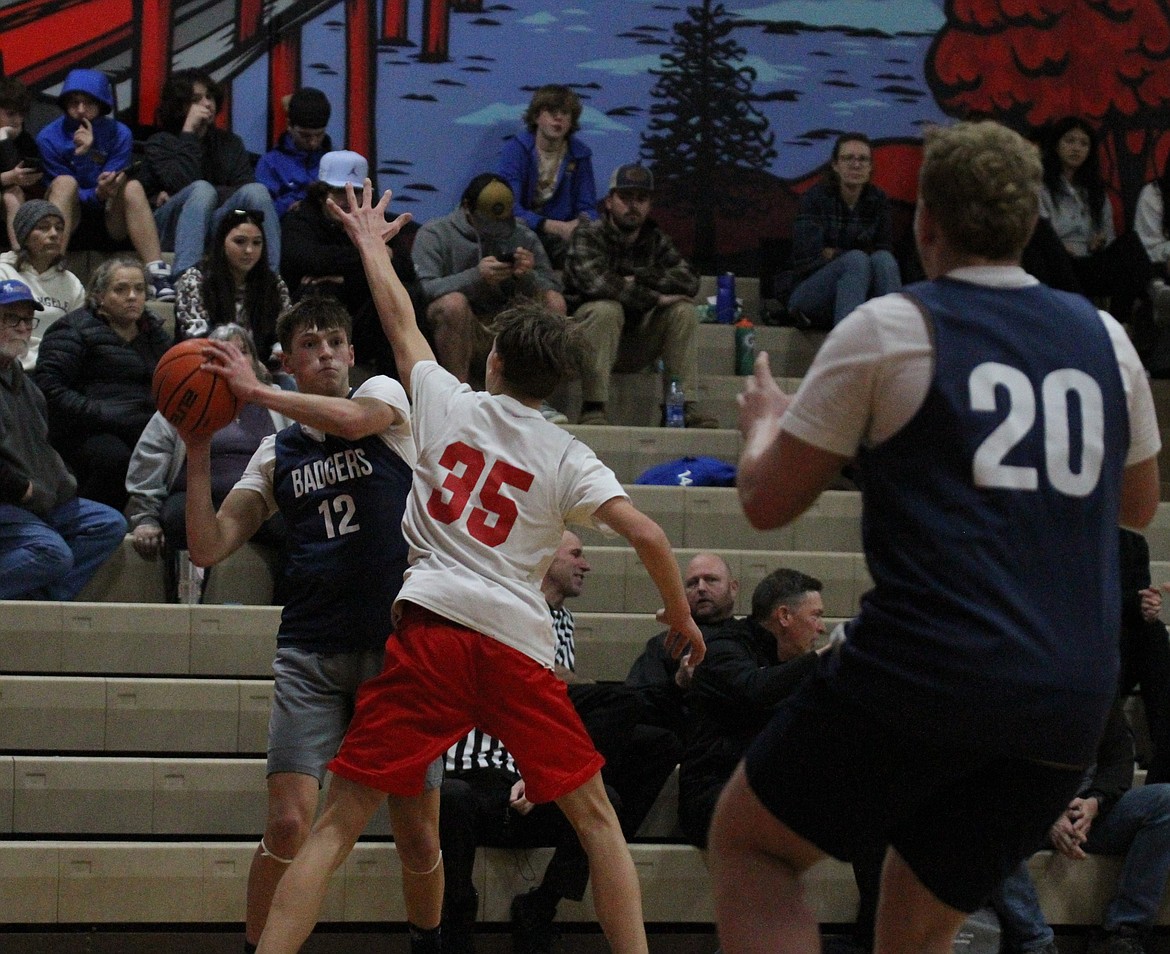
<svg viewBox="0 0 1170 954">
<path fill-rule="evenodd" d="M 284 280 L 264 256 L 264 217 L 235 208 L 215 227 L 202 261 L 183 273 L 174 306 L 174 337 L 199 338 L 222 324 L 241 324 L 267 362 L 276 318 L 291 304 Z M 278 354 L 278 351 L 277 351 Z"/>
</svg>

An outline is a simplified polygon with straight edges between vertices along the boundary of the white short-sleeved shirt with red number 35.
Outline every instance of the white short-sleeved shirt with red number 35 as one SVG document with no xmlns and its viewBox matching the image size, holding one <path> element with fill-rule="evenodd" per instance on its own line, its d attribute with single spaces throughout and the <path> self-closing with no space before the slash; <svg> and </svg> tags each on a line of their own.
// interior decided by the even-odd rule
<svg viewBox="0 0 1170 954">
<path fill-rule="evenodd" d="M 402 533 L 406 599 L 552 667 L 541 581 L 565 523 L 625 499 L 613 472 L 541 412 L 472 391 L 434 362 L 412 375 L 419 464 Z M 604 527 L 600 529 L 605 529 Z"/>
</svg>

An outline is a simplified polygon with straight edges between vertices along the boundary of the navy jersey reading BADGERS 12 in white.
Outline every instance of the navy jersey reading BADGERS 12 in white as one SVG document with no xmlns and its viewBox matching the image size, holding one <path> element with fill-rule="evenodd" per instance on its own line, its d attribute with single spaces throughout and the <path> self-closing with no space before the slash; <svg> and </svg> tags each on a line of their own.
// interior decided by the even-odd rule
<svg viewBox="0 0 1170 954">
<path fill-rule="evenodd" d="M 380 648 L 406 572 L 412 469 L 378 435 L 276 435 L 273 494 L 289 534 L 289 599 L 277 643 L 315 652 Z"/>
</svg>

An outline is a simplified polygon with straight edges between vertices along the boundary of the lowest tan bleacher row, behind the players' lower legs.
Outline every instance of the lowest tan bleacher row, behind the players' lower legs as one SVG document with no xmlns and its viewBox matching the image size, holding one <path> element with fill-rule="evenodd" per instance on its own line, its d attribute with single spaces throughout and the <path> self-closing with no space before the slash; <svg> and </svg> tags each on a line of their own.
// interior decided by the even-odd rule
<svg viewBox="0 0 1170 954">
<path fill-rule="evenodd" d="M 0 910 L 14 925 L 239 924 L 255 845 L 252 842 L 0 842 Z M 549 849 L 481 849 L 475 881 L 481 922 L 508 920 L 512 897 L 542 871 Z M 633 844 L 647 922 L 711 922 L 710 881 L 703 856 L 688 845 Z M 1045 917 L 1055 925 L 1101 922 L 1120 859 L 1099 855 L 1079 862 L 1055 852 L 1035 855 L 1030 870 Z M 818 921 L 847 924 L 856 914 L 848 865 L 826 859 L 804 878 Z M 593 922 L 584 901 L 563 901 L 562 922 Z M 359 842 L 330 883 L 323 922 L 401 922 L 401 867 L 394 845 Z M 1163 900 L 1158 925 L 1170 924 Z"/>
</svg>

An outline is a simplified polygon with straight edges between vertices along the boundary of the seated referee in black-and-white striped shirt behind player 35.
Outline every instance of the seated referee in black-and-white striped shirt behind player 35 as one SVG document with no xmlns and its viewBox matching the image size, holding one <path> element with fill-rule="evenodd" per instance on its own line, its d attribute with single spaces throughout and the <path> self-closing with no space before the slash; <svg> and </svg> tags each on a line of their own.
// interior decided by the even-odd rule
<svg viewBox="0 0 1170 954">
<path fill-rule="evenodd" d="M 573 616 L 565 599 L 579 596 L 590 565 L 580 538 L 565 530 L 541 583 L 552 615 L 556 638 L 555 668 L 562 679 L 576 671 Z M 607 787 L 611 802 L 619 797 Z M 619 809 L 620 812 L 620 809 Z M 589 884 L 589 859 L 577 832 L 552 802 L 532 804 L 524 797 L 524 780 L 503 742 L 473 729 L 447 751 L 441 789 L 439 838 L 443 853 L 442 949 L 470 954 L 479 893 L 472 866 L 479 845 L 495 847 L 555 846 L 541 884 L 512 899 L 512 950 L 548 954 L 556 931 L 553 919 L 562 898 L 579 901 Z"/>
</svg>

